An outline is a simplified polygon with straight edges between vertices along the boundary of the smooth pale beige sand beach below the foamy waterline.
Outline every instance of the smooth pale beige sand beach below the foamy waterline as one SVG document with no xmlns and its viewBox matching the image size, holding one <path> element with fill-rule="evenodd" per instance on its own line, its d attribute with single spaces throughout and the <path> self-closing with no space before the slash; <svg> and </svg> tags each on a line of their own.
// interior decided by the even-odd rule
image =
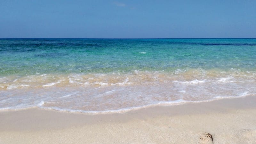
<svg viewBox="0 0 256 144">
<path fill-rule="evenodd" d="M 255 96 L 123 114 L 30 108 L 0 119 L 0 143 L 256 143 Z"/>
</svg>

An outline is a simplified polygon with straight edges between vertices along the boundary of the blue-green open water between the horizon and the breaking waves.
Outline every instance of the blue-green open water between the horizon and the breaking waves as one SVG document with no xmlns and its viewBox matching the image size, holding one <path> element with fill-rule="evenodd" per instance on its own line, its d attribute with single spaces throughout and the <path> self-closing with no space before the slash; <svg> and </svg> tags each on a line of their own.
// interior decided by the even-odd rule
<svg viewBox="0 0 256 144">
<path fill-rule="evenodd" d="M 0 39 L 2 76 L 256 68 L 256 39 Z"/>
</svg>

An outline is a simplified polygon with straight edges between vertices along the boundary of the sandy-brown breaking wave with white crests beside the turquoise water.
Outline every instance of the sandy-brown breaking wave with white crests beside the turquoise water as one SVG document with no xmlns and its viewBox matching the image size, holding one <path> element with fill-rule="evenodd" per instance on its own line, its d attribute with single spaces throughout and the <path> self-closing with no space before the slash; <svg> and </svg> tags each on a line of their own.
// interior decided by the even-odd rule
<svg viewBox="0 0 256 144">
<path fill-rule="evenodd" d="M 207 84 L 240 83 L 256 81 L 255 71 L 227 71 L 202 68 L 176 69 L 172 71 L 140 71 L 89 73 L 89 74 L 39 74 L 0 77 L 0 90 L 20 88 L 46 88 L 52 86 L 127 86 L 155 84 Z"/>
</svg>

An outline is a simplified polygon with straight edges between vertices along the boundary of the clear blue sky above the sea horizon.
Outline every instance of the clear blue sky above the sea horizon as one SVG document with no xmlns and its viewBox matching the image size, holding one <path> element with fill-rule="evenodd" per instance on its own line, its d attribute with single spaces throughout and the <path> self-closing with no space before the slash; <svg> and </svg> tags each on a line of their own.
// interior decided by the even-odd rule
<svg viewBox="0 0 256 144">
<path fill-rule="evenodd" d="M 0 0 L 0 38 L 256 38 L 256 0 Z"/>
</svg>

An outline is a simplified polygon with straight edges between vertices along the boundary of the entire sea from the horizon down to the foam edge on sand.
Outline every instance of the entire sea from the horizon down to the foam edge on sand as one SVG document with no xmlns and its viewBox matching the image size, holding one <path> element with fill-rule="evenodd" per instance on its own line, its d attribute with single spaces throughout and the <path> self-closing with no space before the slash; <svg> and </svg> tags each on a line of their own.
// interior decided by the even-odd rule
<svg viewBox="0 0 256 144">
<path fill-rule="evenodd" d="M 0 39 L 0 110 L 83 113 L 256 95 L 256 39 Z"/>
</svg>

